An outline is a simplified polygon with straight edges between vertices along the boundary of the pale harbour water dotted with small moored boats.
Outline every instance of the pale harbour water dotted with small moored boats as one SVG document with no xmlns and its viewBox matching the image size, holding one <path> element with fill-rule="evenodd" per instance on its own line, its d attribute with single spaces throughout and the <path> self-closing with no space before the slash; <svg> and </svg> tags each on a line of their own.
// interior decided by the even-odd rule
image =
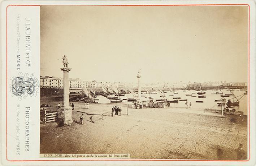
<svg viewBox="0 0 256 166">
<path fill-rule="evenodd" d="M 221 89 L 220 90 L 205 90 L 203 92 L 205 92 L 205 94 L 203 94 L 206 98 L 198 98 L 198 92 L 199 91 L 195 91 L 195 90 L 178 90 L 178 91 L 162 91 L 162 92 L 151 92 L 151 93 L 146 93 L 146 92 L 142 92 L 142 100 L 143 103 L 145 103 L 145 101 L 149 101 L 149 98 L 153 98 L 153 101 L 155 100 L 159 100 L 159 99 L 164 99 L 167 98 L 167 100 L 172 101 L 172 100 L 178 100 L 178 103 L 170 103 L 170 107 L 186 107 L 185 103 L 186 101 L 179 101 L 179 100 L 185 100 L 187 99 L 187 103 L 189 105 L 189 103 L 191 102 L 191 107 L 192 108 L 199 108 L 199 109 L 217 109 L 217 110 L 221 110 L 221 106 L 218 106 L 217 103 L 220 103 L 220 101 L 214 101 L 214 100 L 220 100 L 221 95 L 225 95 L 225 94 L 231 94 L 231 92 L 228 89 Z M 216 94 L 216 93 L 220 93 L 223 92 L 223 94 Z M 241 91 L 240 89 L 234 89 L 234 91 L 232 91 L 234 93 L 234 96 L 231 95 L 229 97 L 225 97 L 226 98 L 226 102 L 227 100 L 231 100 L 231 102 L 235 102 L 237 101 L 237 99 L 239 99 L 239 106 L 233 106 L 235 110 L 237 111 L 242 111 L 244 112 L 244 115 L 247 115 L 247 94 L 246 91 Z M 178 93 L 178 94 L 175 94 Z M 214 94 L 213 94 L 214 93 Z M 164 97 L 162 97 L 164 94 Z M 186 94 L 192 94 L 192 96 L 187 96 Z M 125 94 L 125 96 L 120 96 L 122 103 L 126 103 L 126 99 L 127 98 L 134 98 L 133 94 Z M 235 98 L 235 96 L 237 97 L 237 99 Z M 99 98 L 100 96 L 97 96 L 97 98 Z M 136 97 L 136 96 L 135 96 Z M 175 99 L 177 97 L 181 97 L 179 99 Z M 241 98 L 242 97 L 242 98 Z M 196 101 L 202 101 L 202 102 L 196 102 Z M 129 105 L 131 105 L 132 102 L 128 102 Z"/>
</svg>

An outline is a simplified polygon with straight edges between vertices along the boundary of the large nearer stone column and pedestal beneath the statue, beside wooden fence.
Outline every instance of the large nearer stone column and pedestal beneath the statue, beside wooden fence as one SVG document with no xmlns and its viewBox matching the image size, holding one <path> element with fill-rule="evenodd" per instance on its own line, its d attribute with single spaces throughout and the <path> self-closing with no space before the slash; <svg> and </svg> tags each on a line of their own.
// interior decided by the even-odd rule
<svg viewBox="0 0 256 166">
<path fill-rule="evenodd" d="M 69 71 L 70 68 L 61 68 L 63 71 L 63 106 L 61 109 L 61 125 L 71 125 L 72 120 L 72 107 L 69 106 Z"/>
</svg>

